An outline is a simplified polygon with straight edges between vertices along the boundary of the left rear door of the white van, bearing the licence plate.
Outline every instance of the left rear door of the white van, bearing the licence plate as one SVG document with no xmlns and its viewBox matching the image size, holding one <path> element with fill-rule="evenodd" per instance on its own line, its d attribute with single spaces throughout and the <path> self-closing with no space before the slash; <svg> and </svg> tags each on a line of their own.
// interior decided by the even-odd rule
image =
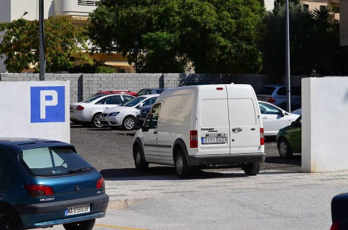
<svg viewBox="0 0 348 230">
<path fill-rule="evenodd" d="M 226 85 L 200 85 L 198 94 L 198 154 L 230 154 Z"/>
</svg>

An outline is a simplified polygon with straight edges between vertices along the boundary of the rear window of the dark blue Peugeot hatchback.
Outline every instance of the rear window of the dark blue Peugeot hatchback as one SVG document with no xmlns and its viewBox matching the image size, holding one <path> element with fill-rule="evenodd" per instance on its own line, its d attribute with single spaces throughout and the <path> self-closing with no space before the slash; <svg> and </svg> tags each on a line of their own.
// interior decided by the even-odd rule
<svg viewBox="0 0 348 230">
<path fill-rule="evenodd" d="M 68 147 L 41 147 L 24 149 L 19 161 L 33 176 L 58 176 L 94 170 L 73 149 Z"/>
</svg>

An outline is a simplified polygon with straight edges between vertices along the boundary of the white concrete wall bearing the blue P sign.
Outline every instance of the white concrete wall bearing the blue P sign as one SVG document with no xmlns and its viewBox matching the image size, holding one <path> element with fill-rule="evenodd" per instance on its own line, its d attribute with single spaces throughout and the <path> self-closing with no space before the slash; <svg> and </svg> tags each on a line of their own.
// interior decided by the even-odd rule
<svg viewBox="0 0 348 230">
<path fill-rule="evenodd" d="M 69 81 L 0 82 L 0 137 L 70 143 Z"/>
</svg>

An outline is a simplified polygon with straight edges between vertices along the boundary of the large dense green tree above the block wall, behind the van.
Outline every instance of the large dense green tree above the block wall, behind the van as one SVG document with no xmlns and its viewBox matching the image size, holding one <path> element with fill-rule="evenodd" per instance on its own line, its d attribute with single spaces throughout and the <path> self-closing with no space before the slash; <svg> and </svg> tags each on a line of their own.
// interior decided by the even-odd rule
<svg viewBox="0 0 348 230">
<path fill-rule="evenodd" d="M 90 15 L 95 49 L 141 72 L 259 72 L 260 0 L 104 0 Z M 137 42 L 134 42 L 137 41 Z"/>
</svg>

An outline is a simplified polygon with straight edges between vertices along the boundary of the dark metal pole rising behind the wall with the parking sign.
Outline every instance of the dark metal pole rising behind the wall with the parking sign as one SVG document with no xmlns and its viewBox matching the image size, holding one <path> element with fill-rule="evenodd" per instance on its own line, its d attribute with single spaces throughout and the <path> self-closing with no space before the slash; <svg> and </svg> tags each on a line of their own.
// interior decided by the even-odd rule
<svg viewBox="0 0 348 230">
<path fill-rule="evenodd" d="M 44 0 L 39 0 L 39 42 L 40 42 L 40 81 L 45 81 L 45 40 L 44 40 Z"/>
</svg>

